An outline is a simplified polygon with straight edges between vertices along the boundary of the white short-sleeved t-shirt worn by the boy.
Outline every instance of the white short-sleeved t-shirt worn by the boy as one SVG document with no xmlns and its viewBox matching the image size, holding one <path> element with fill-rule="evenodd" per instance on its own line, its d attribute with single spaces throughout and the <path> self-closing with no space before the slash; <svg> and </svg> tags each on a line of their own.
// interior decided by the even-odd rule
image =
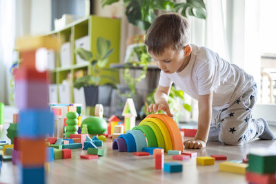
<svg viewBox="0 0 276 184">
<path fill-rule="evenodd" d="M 213 108 L 228 108 L 248 88 L 255 85 L 253 76 L 237 65 L 230 64 L 212 50 L 192 46 L 192 56 L 181 72 L 160 73 L 159 85 L 175 83 L 181 90 L 198 100 L 199 95 L 213 92 Z"/>
</svg>

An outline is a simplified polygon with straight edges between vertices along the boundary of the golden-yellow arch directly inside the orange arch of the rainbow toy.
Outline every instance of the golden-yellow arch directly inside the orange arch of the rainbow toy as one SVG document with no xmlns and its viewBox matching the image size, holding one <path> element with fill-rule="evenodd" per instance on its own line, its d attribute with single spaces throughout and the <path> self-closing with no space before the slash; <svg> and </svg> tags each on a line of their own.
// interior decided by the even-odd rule
<svg viewBox="0 0 276 184">
<path fill-rule="evenodd" d="M 157 125 L 159 127 L 159 129 L 161 130 L 161 133 L 163 134 L 163 138 L 165 141 L 166 152 L 168 152 L 168 150 L 172 150 L 173 149 L 172 148 L 172 139 L 170 138 L 170 132 L 168 132 L 168 128 L 166 127 L 166 124 L 157 118 L 146 118 L 141 122 L 144 122 L 144 121 L 150 121 L 152 123 L 155 123 L 155 125 Z"/>
</svg>

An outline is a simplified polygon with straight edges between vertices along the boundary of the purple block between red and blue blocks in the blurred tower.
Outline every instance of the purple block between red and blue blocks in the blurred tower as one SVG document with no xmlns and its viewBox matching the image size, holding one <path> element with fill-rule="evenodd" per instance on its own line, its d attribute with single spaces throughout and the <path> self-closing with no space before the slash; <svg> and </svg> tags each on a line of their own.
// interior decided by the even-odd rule
<svg viewBox="0 0 276 184">
<path fill-rule="evenodd" d="M 20 80 L 15 83 L 15 103 L 19 109 L 48 108 L 48 83 Z"/>
</svg>

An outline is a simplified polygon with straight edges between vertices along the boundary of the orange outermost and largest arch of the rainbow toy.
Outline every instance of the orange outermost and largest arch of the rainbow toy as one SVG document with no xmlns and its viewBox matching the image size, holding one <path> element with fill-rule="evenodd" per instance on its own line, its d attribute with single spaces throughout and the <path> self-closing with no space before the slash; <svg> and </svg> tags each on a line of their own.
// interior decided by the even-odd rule
<svg viewBox="0 0 276 184">
<path fill-rule="evenodd" d="M 166 124 L 168 131 L 170 132 L 170 137 L 172 139 L 172 148 L 173 150 L 180 150 L 183 151 L 183 143 L 182 143 L 182 137 L 180 134 L 179 127 L 173 121 L 173 119 L 166 115 L 166 114 L 150 114 L 146 116 L 147 118 L 157 118 L 163 121 L 163 123 Z"/>
</svg>

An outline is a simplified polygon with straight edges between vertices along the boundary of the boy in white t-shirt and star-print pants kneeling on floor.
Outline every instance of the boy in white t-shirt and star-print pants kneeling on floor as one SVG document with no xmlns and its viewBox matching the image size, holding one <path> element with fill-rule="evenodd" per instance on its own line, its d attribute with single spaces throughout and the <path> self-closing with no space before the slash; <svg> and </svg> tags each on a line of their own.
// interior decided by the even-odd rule
<svg viewBox="0 0 276 184">
<path fill-rule="evenodd" d="M 207 140 L 242 145 L 256 137 L 275 139 L 264 119 L 252 119 L 257 98 L 253 76 L 212 50 L 189 44 L 188 35 L 187 21 L 175 13 L 157 17 L 150 26 L 145 44 L 161 73 L 148 111 L 172 116 L 167 100 L 173 82 L 198 101 L 197 134 L 184 141 L 186 148 L 200 149 Z"/>
</svg>

